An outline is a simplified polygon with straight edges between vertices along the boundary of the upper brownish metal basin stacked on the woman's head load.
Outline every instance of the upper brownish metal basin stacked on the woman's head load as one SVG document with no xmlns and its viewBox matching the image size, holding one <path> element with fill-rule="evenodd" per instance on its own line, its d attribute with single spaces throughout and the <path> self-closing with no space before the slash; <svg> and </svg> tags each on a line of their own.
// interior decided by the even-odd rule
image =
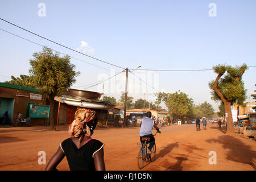
<svg viewBox="0 0 256 182">
<path fill-rule="evenodd" d="M 86 90 L 67 89 L 66 95 L 76 98 L 87 98 L 91 100 L 100 100 L 103 93 L 91 92 Z"/>
</svg>

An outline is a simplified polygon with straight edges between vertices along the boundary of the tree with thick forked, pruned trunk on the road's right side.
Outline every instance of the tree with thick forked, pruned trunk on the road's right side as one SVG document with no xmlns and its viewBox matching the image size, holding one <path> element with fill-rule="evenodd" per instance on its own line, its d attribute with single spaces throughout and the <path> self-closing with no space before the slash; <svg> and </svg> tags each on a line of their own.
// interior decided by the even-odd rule
<svg viewBox="0 0 256 182">
<path fill-rule="evenodd" d="M 228 113 L 227 133 L 229 134 L 234 132 L 231 105 L 233 103 L 243 105 L 243 102 L 246 99 L 246 89 L 241 80 L 246 69 L 246 64 L 241 65 L 241 67 L 218 64 L 213 67 L 213 71 L 217 73 L 218 76 L 216 77 L 216 80 L 209 82 L 209 87 L 213 90 L 211 92 L 212 100 L 217 102 L 222 101 L 224 103 L 225 113 Z M 226 75 L 224 75 L 225 72 Z"/>
</svg>

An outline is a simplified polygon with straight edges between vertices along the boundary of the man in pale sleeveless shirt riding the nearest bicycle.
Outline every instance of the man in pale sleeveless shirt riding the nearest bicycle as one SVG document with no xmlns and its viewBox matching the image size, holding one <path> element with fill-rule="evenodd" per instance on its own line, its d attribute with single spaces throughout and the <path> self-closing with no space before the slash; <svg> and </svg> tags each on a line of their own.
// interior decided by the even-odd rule
<svg viewBox="0 0 256 182">
<path fill-rule="evenodd" d="M 141 139 L 141 143 L 143 143 L 142 138 L 143 137 L 148 137 L 150 138 L 150 145 L 148 147 L 148 153 L 152 154 L 152 147 L 155 144 L 155 138 L 154 135 L 152 135 L 151 130 L 153 129 L 153 126 L 155 127 L 155 129 L 159 132 L 159 128 L 158 126 L 156 126 L 155 120 L 151 119 L 151 115 L 152 113 L 150 111 L 147 112 L 146 117 L 144 117 L 141 121 L 141 125 L 139 127 L 141 127 L 141 129 L 139 130 L 139 137 Z"/>
</svg>

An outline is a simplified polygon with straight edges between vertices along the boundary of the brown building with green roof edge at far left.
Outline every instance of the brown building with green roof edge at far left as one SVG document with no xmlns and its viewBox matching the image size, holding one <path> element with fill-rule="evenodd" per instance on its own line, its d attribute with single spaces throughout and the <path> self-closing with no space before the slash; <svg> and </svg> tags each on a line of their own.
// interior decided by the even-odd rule
<svg viewBox="0 0 256 182">
<path fill-rule="evenodd" d="M 31 105 L 46 105 L 46 96 L 35 88 L 0 82 L 0 117 L 8 111 L 11 124 L 14 125 L 19 113 L 29 117 Z M 44 125 L 46 120 L 32 118 L 31 125 Z"/>
</svg>

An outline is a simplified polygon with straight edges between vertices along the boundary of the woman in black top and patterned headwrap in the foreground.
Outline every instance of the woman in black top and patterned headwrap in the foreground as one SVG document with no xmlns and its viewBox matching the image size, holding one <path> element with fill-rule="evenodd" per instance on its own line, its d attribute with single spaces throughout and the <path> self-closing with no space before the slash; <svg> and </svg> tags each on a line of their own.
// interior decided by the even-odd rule
<svg viewBox="0 0 256 182">
<path fill-rule="evenodd" d="M 97 125 L 96 111 L 78 109 L 75 120 L 68 128 L 71 138 L 60 143 L 57 152 L 49 160 L 46 171 L 57 170 L 57 165 L 66 156 L 71 171 L 105 171 L 104 144 L 92 139 Z"/>
</svg>

